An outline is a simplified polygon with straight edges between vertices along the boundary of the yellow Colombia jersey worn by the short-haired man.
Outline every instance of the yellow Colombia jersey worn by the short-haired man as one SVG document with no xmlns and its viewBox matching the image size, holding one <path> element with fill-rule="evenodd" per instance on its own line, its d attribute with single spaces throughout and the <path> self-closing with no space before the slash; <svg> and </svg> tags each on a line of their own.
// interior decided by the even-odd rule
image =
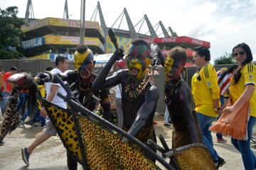
<svg viewBox="0 0 256 170">
<path fill-rule="evenodd" d="M 213 99 L 220 98 L 218 77 L 212 64 L 206 64 L 192 77 L 192 95 L 195 102 L 195 110 L 203 115 L 217 118 L 214 111 Z"/>
</svg>

